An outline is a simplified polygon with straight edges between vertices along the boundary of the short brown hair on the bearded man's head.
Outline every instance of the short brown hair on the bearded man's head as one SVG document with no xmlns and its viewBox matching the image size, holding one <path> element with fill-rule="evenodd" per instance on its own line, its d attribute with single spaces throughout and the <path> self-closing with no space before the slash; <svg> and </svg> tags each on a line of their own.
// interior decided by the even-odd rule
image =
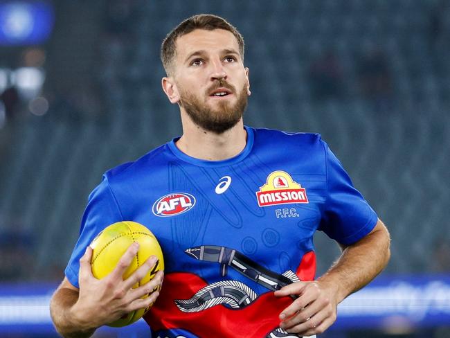
<svg viewBox="0 0 450 338">
<path fill-rule="evenodd" d="M 242 61 L 244 60 L 244 38 L 235 28 L 235 26 L 231 25 L 228 21 L 226 21 L 226 19 L 217 17 L 217 15 L 199 14 L 194 15 L 193 17 L 190 17 L 181 22 L 181 24 L 172 29 L 172 31 L 170 31 L 170 33 L 163 40 L 163 44 L 161 45 L 161 61 L 163 62 L 166 73 L 169 74 L 173 70 L 173 62 L 177 49 L 177 39 L 196 29 L 224 29 L 228 30 L 228 32 L 233 33 L 233 35 L 237 39 L 237 44 L 239 44 L 239 53 L 241 59 Z"/>
</svg>

